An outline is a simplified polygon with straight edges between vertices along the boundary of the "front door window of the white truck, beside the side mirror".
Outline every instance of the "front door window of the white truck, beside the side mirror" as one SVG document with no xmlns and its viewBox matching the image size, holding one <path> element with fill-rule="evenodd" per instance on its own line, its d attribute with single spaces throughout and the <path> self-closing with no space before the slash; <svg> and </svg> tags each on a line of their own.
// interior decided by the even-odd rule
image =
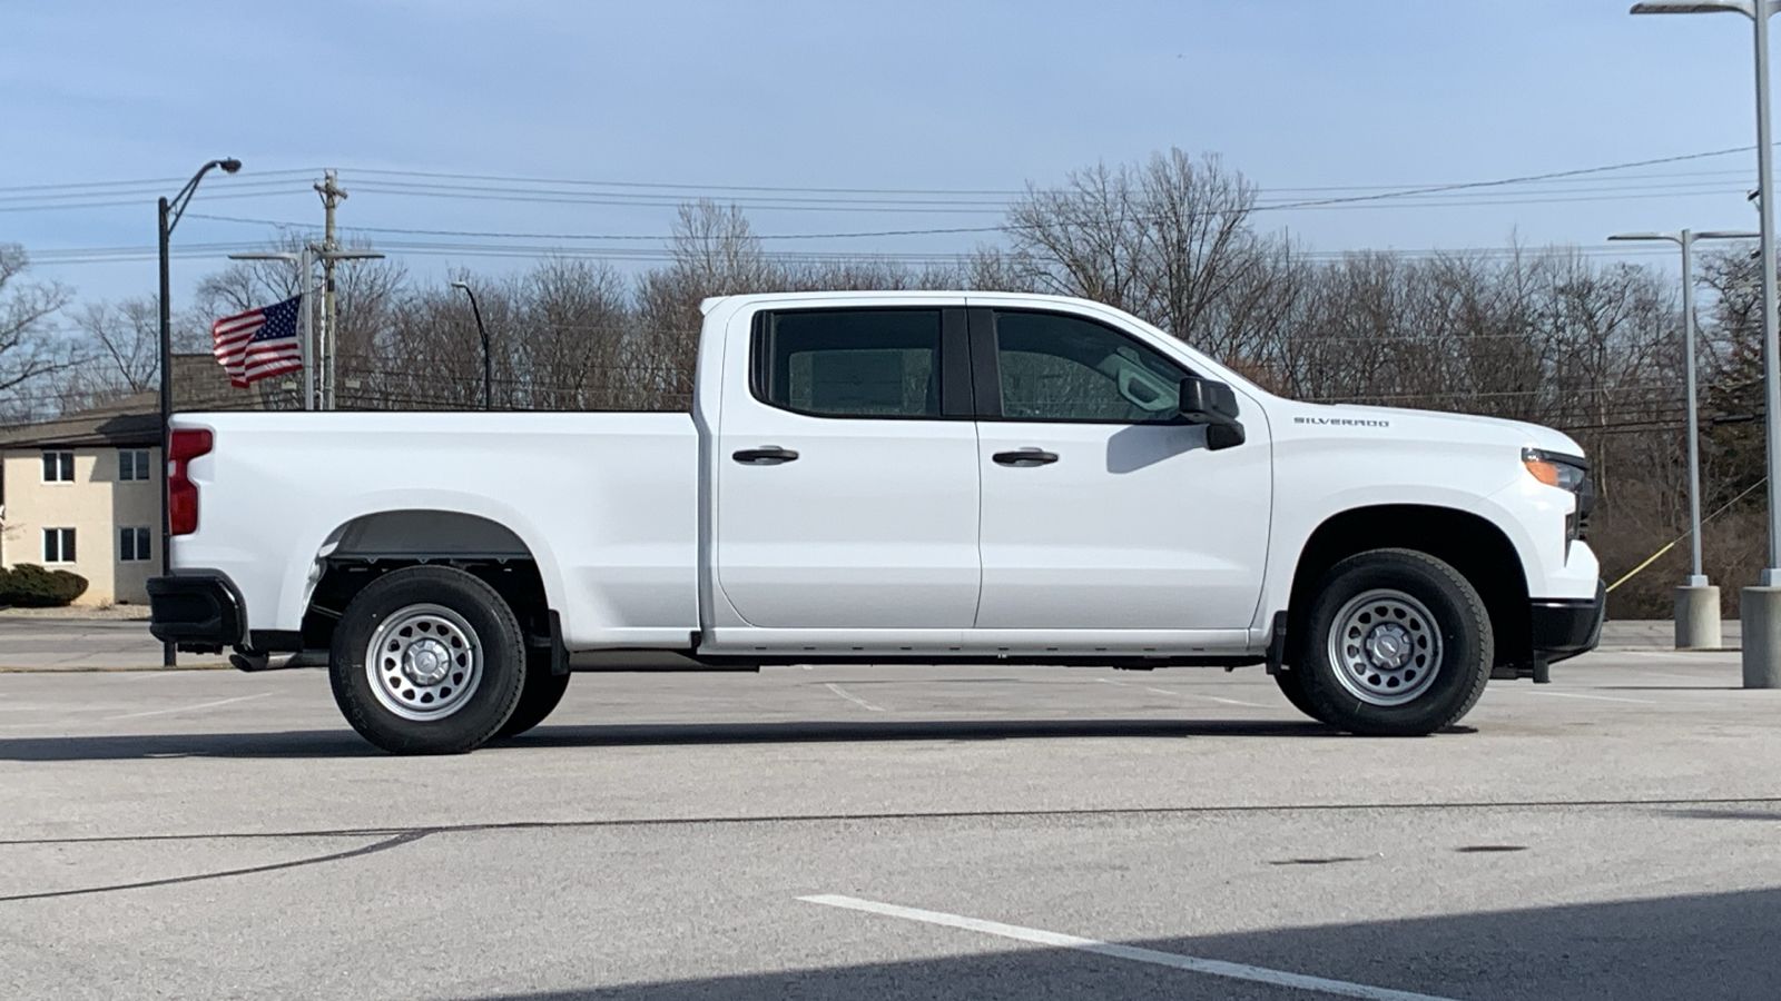
<svg viewBox="0 0 1781 1001">
<path fill-rule="evenodd" d="M 1147 424 L 1181 417 L 1181 365 L 1094 321 L 997 312 L 996 365 L 1010 420 Z"/>
</svg>

